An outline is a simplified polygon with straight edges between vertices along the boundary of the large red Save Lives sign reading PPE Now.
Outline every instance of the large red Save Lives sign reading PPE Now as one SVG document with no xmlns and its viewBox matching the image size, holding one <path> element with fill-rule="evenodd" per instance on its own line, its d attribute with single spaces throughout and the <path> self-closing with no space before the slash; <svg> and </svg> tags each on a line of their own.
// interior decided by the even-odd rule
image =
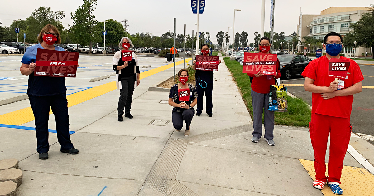
<svg viewBox="0 0 374 196">
<path fill-rule="evenodd" d="M 34 75 L 75 78 L 77 75 L 78 57 L 78 52 L 38 48 Z"/>
</svg>

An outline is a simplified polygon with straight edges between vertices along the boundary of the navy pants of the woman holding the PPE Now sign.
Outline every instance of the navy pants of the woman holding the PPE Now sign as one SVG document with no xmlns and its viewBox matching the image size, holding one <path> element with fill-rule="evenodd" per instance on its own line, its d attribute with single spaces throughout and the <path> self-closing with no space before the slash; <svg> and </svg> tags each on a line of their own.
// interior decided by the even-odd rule
<svg viewBox="0 0 374 196">
<path fill-rule="evenodd" d="M 35 117 L 36 151 L 38 153 L 47 153 L 49 151 L 49 107 L 52 108 L 53 115 L 55 115 L 57 139 L 61 145 L 61 150 L 73 148 L 69 135 L 68 100 L 66 99 L 66 94 L 53 96 L 28 95 L 28 97 Z"/>
</svg>

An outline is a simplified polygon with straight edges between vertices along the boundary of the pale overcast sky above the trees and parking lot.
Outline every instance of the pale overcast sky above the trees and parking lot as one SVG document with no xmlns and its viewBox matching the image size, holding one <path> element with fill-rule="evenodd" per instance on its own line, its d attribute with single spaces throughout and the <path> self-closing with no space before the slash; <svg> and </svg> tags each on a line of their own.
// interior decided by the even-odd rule
<svg viewBox="0 0 374 196">
<path fill-rule="evenodd" d="M 16 3 L 15 3 L 16 2 Z M 230 2 L 230 3 L 229 3 Z M 296 31 L 300 7 L 303 14 L 319 14 L 329 7 L 365 7 L 373 4 L 373 0 L 276 0 L 274 31 L 285 32 L 286 36 Z M 83 0 L 1 0 L 0 21 L 2 26 L 9 26 L 15 19 L 26 19 L 34 9 L 40 6 L 51 7 L 52 10 L 62 10 L 66 18 L 62 20 L 64 27 L 73 24 L 70 12 L 74 12 Z M 235 32 L 246 31 L 248 41 L 253 42 L 255 31 L 260 33 L 261 0 L 206 0 L 203 14 L 199 14 L 200 32 L 210 32 L 211 41 L 218 31 L 227 31 L 233 26 L 234 9 L 242 11 L 235 13 Z M 196 32 L 196 14 L 192 13 L 191 0 L 98 0 L 93 12 L 98 21 L 114 19 L 129 20 L 129 33 L 149 32 L 160 36 L 173 31 L 173 18 L 177 19 L 177 34 L 183 34 L 186 24 L 186 34 Z M 266 0 L 265 31 L 270 30 L 270 0 Z M 229 34 L 232 36 L 232 29 Z"/>
</svg>

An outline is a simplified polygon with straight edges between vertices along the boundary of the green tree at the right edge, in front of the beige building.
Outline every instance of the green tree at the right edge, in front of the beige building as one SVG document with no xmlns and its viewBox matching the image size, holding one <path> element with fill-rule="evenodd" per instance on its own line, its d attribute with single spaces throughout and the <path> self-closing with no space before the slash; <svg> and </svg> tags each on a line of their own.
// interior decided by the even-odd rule
<svg viewBox="0 0 374 196">
<path fill-rule="evenodd" d="M 356 46 L 371 48 L 374 53 L 374 4 L 370 6 L 370 12 L 363 13 L 360 20 L 350 26 L 352 31 L 344 36 L 344 46 L 354 46 L 355 44 L 353 42 L 356 41 Z"/>
</svg>

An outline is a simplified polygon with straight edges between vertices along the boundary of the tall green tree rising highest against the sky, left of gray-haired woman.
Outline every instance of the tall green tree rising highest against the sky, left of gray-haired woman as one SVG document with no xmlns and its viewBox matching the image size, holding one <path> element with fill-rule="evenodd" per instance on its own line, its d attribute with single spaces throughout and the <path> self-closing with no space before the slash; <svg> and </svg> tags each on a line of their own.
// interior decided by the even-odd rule
<svg viewBox="0 0 374 196">
<path fill-rule="evenodd" d="M 79 6 L 75 13 L 71 12 L 71 19 L 73 19 L 73 26 L 70 26 L 72 40 L 74 42 L 89 45 L 91 53 L 92 43 L 101 40 L 101 31 L 95 31 L 97 20 L 93 15 L 93 10 L 97 6 L 97 0 L 83 0 L 83 5 Z"/>
</svg>

